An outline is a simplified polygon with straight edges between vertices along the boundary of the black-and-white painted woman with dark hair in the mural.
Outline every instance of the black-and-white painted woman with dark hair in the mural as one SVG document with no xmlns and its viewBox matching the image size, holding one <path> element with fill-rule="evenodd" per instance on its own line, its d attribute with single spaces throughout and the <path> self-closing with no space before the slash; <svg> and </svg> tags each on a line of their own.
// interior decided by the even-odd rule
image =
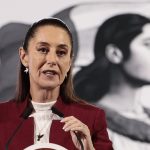
<svg viewBox="0 0 150 150">
<path fill-rule="evenodd" d="M 149 46 L 149 18 L 113 16 L 98 28 L 95 60 L 74 79 L 80 97 L 105 109 L 115 150 L 150 149 L 150 120 L 138 102 L 139 89 L 150 84 Z"/>
</svg>

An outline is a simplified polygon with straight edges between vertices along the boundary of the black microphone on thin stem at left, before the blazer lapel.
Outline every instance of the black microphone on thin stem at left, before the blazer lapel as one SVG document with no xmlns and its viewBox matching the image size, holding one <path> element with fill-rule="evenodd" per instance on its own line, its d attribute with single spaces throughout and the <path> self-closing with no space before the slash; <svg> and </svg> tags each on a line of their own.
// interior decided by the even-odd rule
<svg viewBox="0 0 150 150">
<path fill-rule="evenodd" d="M 30 114 L 33 112 L 33 106 L 30 103 L 26 109 L 24 110 L 24 112 L 21 114 L 20 117 L 23 118 L 23 120 L 21 120 L 21 122 L 18 124 L 18 126 L 15 128 L 15 130 L 13 131 L 13 133 L 11 134 L 11 136 L 9 137 L 7 143 L 6 143 L 6 150 L 8 150 L 10 143 L 12 142 L 13 138 L 15 137 L 15 135 L 17 134 L 18 130 L 21 128 L 22 124 L 24 123 L 24 121 L 26 119 L 28 119 L 28 117 L 30 116 Z"/>
</svg>

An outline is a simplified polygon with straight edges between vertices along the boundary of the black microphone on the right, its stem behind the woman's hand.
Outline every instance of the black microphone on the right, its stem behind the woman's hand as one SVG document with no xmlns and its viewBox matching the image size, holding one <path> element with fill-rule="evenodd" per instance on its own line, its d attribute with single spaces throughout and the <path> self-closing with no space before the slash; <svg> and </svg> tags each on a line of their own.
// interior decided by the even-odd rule
<svg viewBox="0 0 150 150">
<path fill-rule="evenodd" d="M 60 112 L 60 111 L 59 111 L 57 108 L 55 108 L 54 106 L 52 106 L 51 110 L 52 110 L 52 112 L 53 112 L 54 114 L 58 115 L 59 117 L 64 118 L 64 114 L 63 114 L 62 112 Z M 82 143 L 82 141 L 81 141 L 81 139 L 80 139 L 80 136 L 79 136 L 76 132 L 74 132 L 74 134 L 76 135 L 77 140 L 78 140 L 78 142 L 80 143 L 81 150 L 84 150 L 84 146 L 83 146 L 83 143 Z"/>
</svg>

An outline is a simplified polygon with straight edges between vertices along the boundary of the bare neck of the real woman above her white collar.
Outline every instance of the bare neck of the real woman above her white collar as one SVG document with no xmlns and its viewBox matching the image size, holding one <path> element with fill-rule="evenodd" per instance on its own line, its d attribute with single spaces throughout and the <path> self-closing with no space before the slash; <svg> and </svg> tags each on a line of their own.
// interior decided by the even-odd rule
<svg viewBox="0 0 150 150">
<path fill-rule="evenodd" d="M 50 101 L 56 101 L 59 97 L 60 87 L 55 89 L 41 89 L 36 87 L 30 87 L 30 94 L 32 100 L 39 103 L 46 103 Z"/>
</svg>

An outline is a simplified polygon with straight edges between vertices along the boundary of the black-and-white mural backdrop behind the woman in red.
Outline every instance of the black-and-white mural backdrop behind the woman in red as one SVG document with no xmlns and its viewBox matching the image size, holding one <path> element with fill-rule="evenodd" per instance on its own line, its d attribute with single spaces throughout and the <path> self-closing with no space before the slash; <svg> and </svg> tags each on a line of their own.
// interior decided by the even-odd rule
<svg viewBox="0 0 150 150">
<path fill-rule="evenodd" d="M 105 110 L 115 150 L 149 150 L 150 1 L 34 2 L 0 23 L 0 102 L 15 94 L 18 48 L 32 22 L 58 17 L 73 33 L 76 94 Z"/>
</svg>

